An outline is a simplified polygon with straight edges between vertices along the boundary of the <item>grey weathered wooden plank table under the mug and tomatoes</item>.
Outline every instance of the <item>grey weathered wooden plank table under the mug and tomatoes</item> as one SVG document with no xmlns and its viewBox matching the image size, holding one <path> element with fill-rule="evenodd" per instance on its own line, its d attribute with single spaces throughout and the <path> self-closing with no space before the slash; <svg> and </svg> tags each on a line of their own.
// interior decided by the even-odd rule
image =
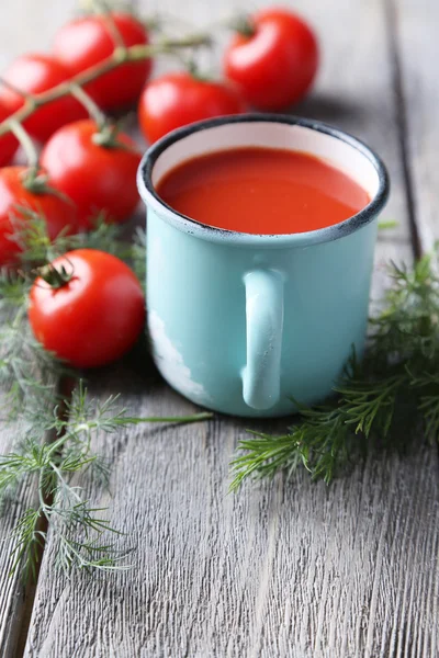
<svg viewBox="0 0 439 658">
<path fill-rule="evenodd" d="M 385 261 L 409 261 L 439 238 L 439 5 L 285 3 L 307 16 L 322 39 L 315 92 L 296 113 L 365 139 L 391 172 L 385 216 L 398 227 L 380 235 L 376 298 Z M 75 1 L 4 4 L 1 65 L 48 47 Z M 199 25 L 262 4 L 145 1 L 149 12 L 177 13 Z M 122 390 L 123 404 L 136 415 L 193 410 L 149 364 L 108 368 L 91 379 L 91 389 L 100 398 Z M 2 656 L 439 656 L 437 449 L 419 436 L 413 454 L 371 455 L 330 488 L 301 473 L 293 481 L 278 477 L 232 496 L 228 462 L 247 424 L 218 418 L 97 436 L 95 450 L 113 464 L 114 496 L 110 500 L 87 486 L 127 533 L 133 569 L 97 577 L 74 572 L 67 579 L 54 568 L 49 534 L 37 586 L 24 590 L 7 575 L 10 543 L 0 543 Z M 1 429 L 2 453 L 15 429 Z M 20 492 L 0 521 L 1 536 L 33 496 L 32 489 Z"/>
</svg>

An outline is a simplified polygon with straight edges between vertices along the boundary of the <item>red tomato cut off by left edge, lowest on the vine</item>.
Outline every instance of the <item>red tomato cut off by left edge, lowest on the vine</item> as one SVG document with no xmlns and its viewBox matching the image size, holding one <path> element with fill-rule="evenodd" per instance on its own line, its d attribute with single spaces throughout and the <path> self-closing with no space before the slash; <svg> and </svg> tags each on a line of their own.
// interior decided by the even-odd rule
<svg viewBox="0 0 439 658">
<path fill-rule="evenodd" d="M 21 251 L 13 240 L 29 208 L 42 215 L 47 224 L 47 232 L 54 239 L 61 230 L 76 230 L 75 205 L 50 192 L 31 192 L 23 184 L 26 167 L 3 167 L 0 169 L 0 265 L 14 262 Z"/>
</svg>

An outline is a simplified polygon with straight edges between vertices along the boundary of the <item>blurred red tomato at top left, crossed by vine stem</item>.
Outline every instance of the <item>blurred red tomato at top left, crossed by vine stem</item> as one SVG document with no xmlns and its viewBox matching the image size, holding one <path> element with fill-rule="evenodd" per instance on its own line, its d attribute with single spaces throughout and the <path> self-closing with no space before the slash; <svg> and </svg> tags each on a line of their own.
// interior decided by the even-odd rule
<svg viewBox="0 0 439 658">
<path fill-rule="evenodd" d="M 111 16 L 125 46 L 149 43 L 148 33 L 134 16 L 123 12 L 111 12 Z M 91 15 L 61 27 L 56 34 L 53 53 L 71 75 L 77 75 L 110 57 L 114 47 L 109 18 Z M 128 105 L 138 99 L 150 70 L 151 59 L 124 64 L 85 89 L 102 107 Z"/>
</svg>

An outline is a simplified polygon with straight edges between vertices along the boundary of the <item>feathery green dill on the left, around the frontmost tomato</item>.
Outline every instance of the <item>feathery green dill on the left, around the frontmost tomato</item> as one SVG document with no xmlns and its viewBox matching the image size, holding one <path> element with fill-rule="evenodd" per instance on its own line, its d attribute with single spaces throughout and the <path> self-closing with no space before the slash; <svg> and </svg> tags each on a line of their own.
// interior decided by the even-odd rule
<svg viewBox="0 0 439 658">
<path fill-rule="evenodd" d="M 144 277 L 145 234 L 138 229 L 132 242 L 125 241 L 120 226 L 105 224 L 100 217 L 87 234 L 60 234 L 50 240 L 44 217 L 29 208 L 20 213 L 25 218 L 15 232 L 21 266 L 0 272 L 0 421 L 15 421 L 16 432 L 13 451 L 0 456 L 0 509 L 7 509 L 5 502 L 19 495 L 22 485 L 36 489 L 37 502 L 24 510 L 12 532 L 11 574 L 20 569 L 24 577 L 36 576 L 48 533 L 55 561 L 66 572 L 74 567 L 124 569 L 127 552 L 121 552 L 114 541 L 122 533 L 105 519 L 108 510 L 95 508 L 78 485 L 78 476 L 86 473 L 97 484 L 108 486 L 110 480 L 109 462 L 92 452 L 93 438 L 99 432 L 108 434 L 146 422 L 196 422 L 212 413 L 133 417 L 121 407 L 119 396 L 90 399 L 81 379 L 71 396 L 58 393 L 57 383 L 63 377 L 75 379 L 78 374 L 45 351 L 30 330 L 27 298 L 38 265 L 88 247 L 122 258 Z"/>
</svg>

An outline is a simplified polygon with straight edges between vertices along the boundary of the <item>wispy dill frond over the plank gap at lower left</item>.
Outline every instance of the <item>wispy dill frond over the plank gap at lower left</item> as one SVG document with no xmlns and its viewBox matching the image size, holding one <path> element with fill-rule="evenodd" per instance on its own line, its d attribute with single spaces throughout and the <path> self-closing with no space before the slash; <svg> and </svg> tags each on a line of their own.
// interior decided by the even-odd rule
<svg viewBox="0 0 439 658">
<path fill-rule="evenodd" d="M 119 535 L 110 522 L 102 517 L 104 509 L 93 508 L 83 498 L 83 489 L 72 484 L 72 477 L 83 473 L 97 456 L 91 453 L 89 442 L 77 442 L 75 449 L 64 451 L 70 436 L 60 435 L 53 443 L 40 443 L 27 438 L 20 451 L 0 457 L 0 498 L 16 490 L 18 485 L 34 477 L 38 490 L 38 508 L 26 510 L 13 531 L 14 561 L 12 571 L 19 566 L 25 575 L 34 575 L 38 547 L 46 538 L 46 531 L 38 529 L 45 519 L 56 545 L 56 561 L 63 567 L 114 568 L 123 555 L 112 555 L 103 546 L 103 533 Z M 82 535 L 82 540 L 79 537 Z"/>
</svg>

